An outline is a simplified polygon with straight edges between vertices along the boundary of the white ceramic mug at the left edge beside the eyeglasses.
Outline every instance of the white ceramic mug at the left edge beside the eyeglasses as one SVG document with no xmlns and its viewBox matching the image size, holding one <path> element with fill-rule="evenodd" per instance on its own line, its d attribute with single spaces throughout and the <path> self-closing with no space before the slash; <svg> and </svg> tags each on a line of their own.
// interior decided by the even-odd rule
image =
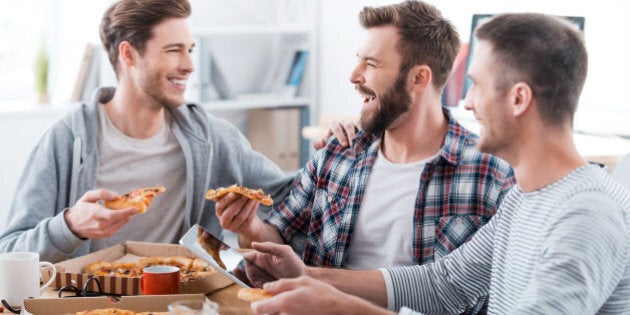
<svg viewBox="0 0 630 315">
<path fill-rule="evenodd" d="M 50 280 L 39 286 L 44 268 L 52 270 Z M 24 299 L 39 297 L 42 290 L 55 280 L 57 269 L 47 261 L 39 261 L 39 254 L 13 252 L 0 254 L 0 299 L 11 306 L 23 306 Z"/>
</svg>

